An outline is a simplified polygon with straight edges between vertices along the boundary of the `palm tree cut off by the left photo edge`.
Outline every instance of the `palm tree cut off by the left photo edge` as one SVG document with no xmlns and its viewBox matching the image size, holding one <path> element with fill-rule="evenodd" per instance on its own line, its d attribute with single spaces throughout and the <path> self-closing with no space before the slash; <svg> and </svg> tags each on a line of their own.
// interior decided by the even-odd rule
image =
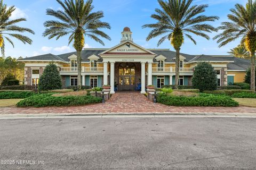
<svg viewBox="0 0 256 170">
<path fill-rule="evenodd" d="M 30 32 L 33 34 L 35 33 L 34 31 L 28 28 L 19 27 L 18 25 L 16 25 L 21 21 L 26 21 L 26 19 L 19 18 L 19 19 L 11 20 L 10 17 L 13 11 L 15 11 L 14 6 L 7 7 L 7 5 L 3 3 L 3 0 L 0 1 L 0 47 L 1 47 L 1 52 L 3 57 L 4 57 L 5 40 L 9 42 L 13 46 L 13 48 L 14 48 L 14 43 L 11 38 L 16 38 L 22 41 L 22 43 L 24 44 L 26 43 L 32 44 L 32 40 L 30 38 L 15 32 Z"/>
</svg>

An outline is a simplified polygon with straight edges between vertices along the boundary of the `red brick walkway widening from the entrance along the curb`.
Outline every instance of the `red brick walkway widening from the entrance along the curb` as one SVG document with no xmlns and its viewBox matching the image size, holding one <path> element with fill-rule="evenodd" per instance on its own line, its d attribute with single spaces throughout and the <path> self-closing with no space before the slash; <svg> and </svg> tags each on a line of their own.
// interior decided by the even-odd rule
<svg viewBox="0 0 256 170">
<path fill-rule="evenodd" d="M 73 107 L 0 108 L 0 114 L 35 113 L 256 113 L 253 107 L 175 107 L 154 104 L 139 92 L 118 92 L 105 104 Z"/>
</svg>

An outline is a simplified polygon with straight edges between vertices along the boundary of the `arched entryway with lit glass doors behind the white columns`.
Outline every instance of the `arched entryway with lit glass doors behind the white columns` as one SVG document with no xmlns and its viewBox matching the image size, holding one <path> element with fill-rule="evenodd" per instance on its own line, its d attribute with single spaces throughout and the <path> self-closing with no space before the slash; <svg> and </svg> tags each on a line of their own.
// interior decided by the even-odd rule
<svg viewBox="0 0 256 170">
<path fill-rule="evenodd" d="M 118 68 L 119 90 L 135 90 L 136 66 L 134 63 L 121 63 Z"/>
</svg>

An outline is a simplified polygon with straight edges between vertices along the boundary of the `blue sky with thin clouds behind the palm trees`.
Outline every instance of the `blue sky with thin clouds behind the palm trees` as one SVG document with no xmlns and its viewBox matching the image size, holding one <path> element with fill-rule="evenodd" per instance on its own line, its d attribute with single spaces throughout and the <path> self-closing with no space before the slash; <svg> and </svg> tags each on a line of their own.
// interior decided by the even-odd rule
<svg viewBox="0 0 256 170">
<path fill-rule="evenodd" d="M 47 39 L 42 37 L 45 28 L 44 21 L 54 19 L 52 16 L 45 14 L 46 8 L 57 10 L 60 5 L 55 0 L 4 0 L 8 6 L 15 5 L 17 9 L 12 15 L 12 19 L 24 17 L 26 22 L 19 25 L 29 27 L 35 31 L 35 35 L 29 35 L 33 39 L 32 45 L 24 45 L 19 41 L 14 40 L 15 48 L 6 43 L 5 55 L 13 57 L 30 57 L 40 54 L 63 54 L 73 52 L 74 48 L 68 46 L 68 37 L 63 37 L 59 40 Z M 221 22 L 227 21 L 227 14 L 230 13 L 230 8 L 233 8 L 236 3 L 245 4 L 246 0 L 194 0 L 195 4 L 209 4 L 206 8 L 206 15 L 217 15 L 219 21 L 212 22 L 214 27 L 218 27 Z M 94 11 L 103 11 L 105 17 L 102 21 L 109 22 L 111 30 L 104 30 L 110 37 L 111 41 L 104 40 L 105 46 L 101 46 L 95 41 L 86 38 L 85 47 L 87 48 L 110 48 L 120 43 L 121 32 L 124 27 L 130 27 L 133 32 L 134 43 L 145 48 L 169 48 L 173 50 L 169 41 L 165 41 L 161 46 L 157 47 L 158 38 L 146 41 L 149 29 L 142 29 L 141 26 L 145 23 L 154 23 L 155 20 L 150 18 L 154 13 L 154 9 L 159 7 L 156 0 L 94 0 Z M 214 37 L 216 33 L 212 33 L 210 37 Z M 238 41 L 234 41 L 229 45 L 218 48 L 218 44 L 214 40 L 206 40 L 201 37 L 194 38 L 197 45 L 194 45 L 190 40 L 185 39 L 185 43 L 181 48 L 182 53 L 187 54 L 208 54 L 208 55 L 226 55 L 230 48 L 238 45 Z"/>
</svg>

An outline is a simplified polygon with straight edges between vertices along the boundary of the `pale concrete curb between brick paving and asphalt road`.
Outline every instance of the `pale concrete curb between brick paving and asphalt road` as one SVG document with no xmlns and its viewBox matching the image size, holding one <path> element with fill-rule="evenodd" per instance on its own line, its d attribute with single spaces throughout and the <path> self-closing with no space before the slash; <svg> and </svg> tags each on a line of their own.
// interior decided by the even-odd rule
<svg viewBox="0 0 256 170">
<path fill-rule="evenodd" d="M 2 114 L 0 119 L 19 118 L 108 118 L 108 117 L 253 117 L 256 113 L 62 113 L 62 114 Z"/>
</svg>

